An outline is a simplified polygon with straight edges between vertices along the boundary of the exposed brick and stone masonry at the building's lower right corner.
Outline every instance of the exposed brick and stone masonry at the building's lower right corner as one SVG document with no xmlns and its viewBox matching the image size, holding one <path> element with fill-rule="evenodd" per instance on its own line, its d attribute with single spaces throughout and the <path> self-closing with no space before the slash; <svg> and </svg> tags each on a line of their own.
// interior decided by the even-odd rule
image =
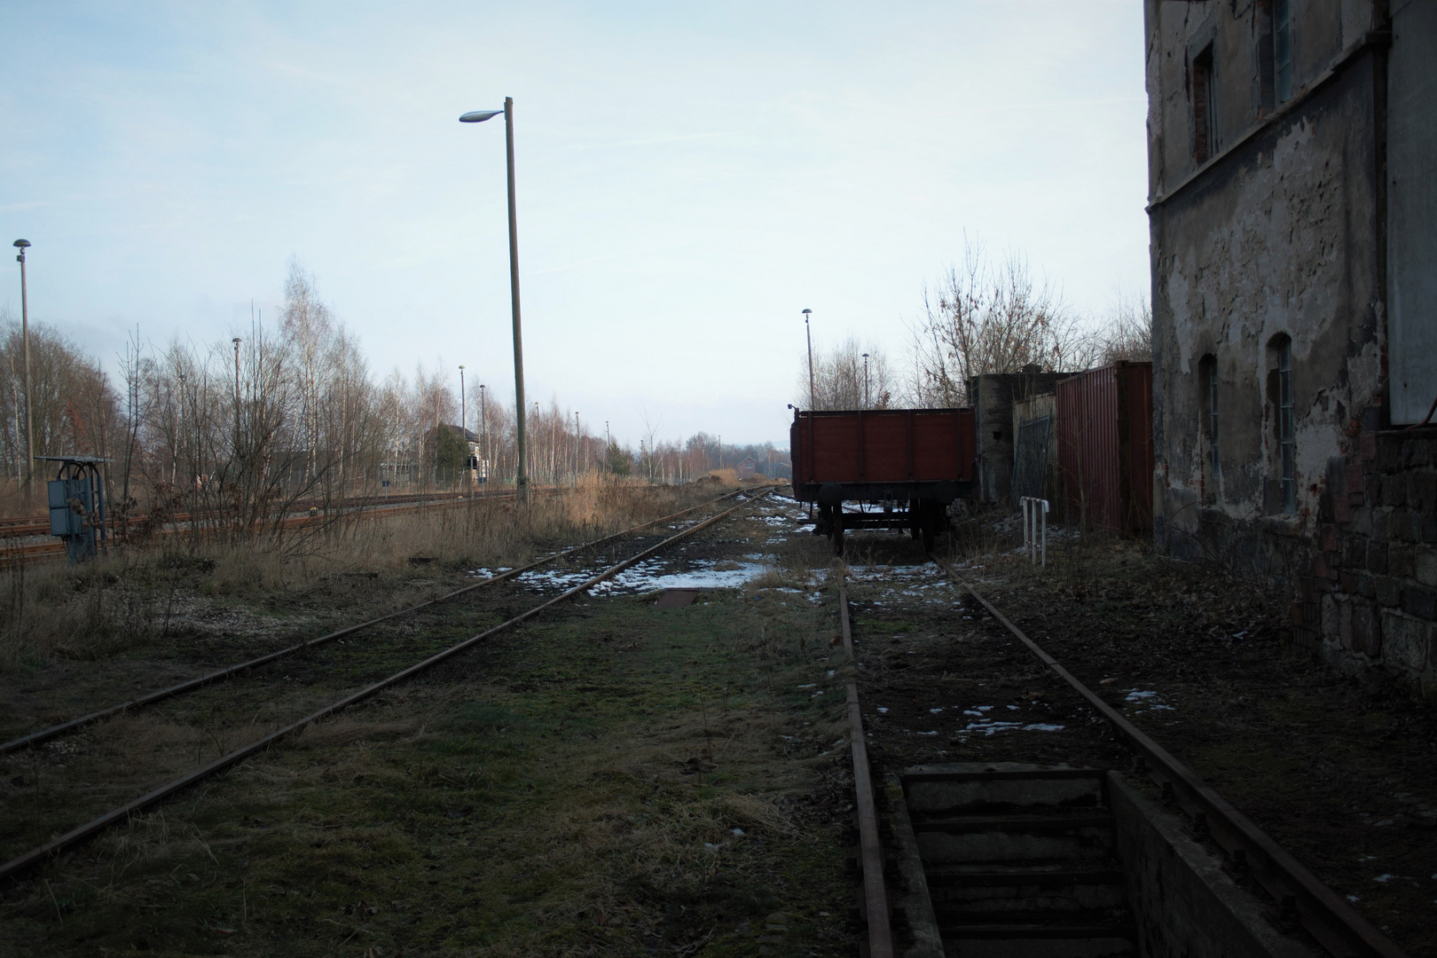
<svg viewBox="0 0 1437 958">
<path fill-rule="evenodd" d="M 1344 671 L 1380 665 L 1437 698 L 1437 427 L 1382 431 L 1328 464 L 1293 639 Z"/>
</svg>

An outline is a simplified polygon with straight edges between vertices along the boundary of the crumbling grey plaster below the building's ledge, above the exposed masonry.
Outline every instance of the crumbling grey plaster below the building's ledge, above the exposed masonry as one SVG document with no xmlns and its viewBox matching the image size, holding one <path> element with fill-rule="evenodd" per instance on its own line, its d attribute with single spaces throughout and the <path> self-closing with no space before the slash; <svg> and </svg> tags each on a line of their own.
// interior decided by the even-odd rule
<svg viewBox="0 0 1437 958">
<path fill-rule="evenodd" d="M 1355 409 L 1374 402 L 1378 261 L 1371 228 L 1354 227 L 1375 217 L 1369 96 L 1361 80 L 1334 86 L 1160 214 L 1154 399 L 1171 506 L 1163 511 L 1175 529 L 1197 533 L 1191 506 L 1203 497 L 1233 520 L 1267 511 L 1276 336 L 1292 339 L 1299 516 L 1315 516 L 1328 460 L 1346 454 Z M 1217 477 L 1200 429 L 1204 355 L 1216 358 L 1219 382 Z"/>
</svg>

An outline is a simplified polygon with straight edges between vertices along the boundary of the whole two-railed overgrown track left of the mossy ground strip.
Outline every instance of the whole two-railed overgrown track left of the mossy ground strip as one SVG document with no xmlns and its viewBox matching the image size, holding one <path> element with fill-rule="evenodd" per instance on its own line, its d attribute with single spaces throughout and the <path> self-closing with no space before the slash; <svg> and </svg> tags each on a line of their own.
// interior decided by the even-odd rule
<svg viewBox="0 0 1437 958">
<path fill-rule="evenodd" d="M 152 807 L 152 806 L 164 801 L 165 799 L 170 799 L 171 796 L 175 796 L 177 793 L 184 791 L 185 789 L 190 789 L 190 787 L 193 787 L 193 786 L 195 786 L 198 783 L 203 783 L 203 781 L 205 781 L 205 780 L 208 780 L 208 778 L 211 778 L 211 777 L 214 777 L 214 776 L 217 776 L 217 774 L 220 774 L 220 773 L 223 773 L 223 771 L 234 767 L 236 764 L 243 763 L 246 758 L 249 758 L 251 755 L 256 755 L 256 754 L 259 754 L 259 753 L 262 753 L 262 751 L 264 751 L 267 748 L 274 747 L 276 744 L 279 744 L 285 738 L 287 738 L 287 737 L 293 735 L 295 733 L 297 733 L 297 731 L 300 731 L 300 730 L 312 725 L 316 721 L 320 721 L 323 718 L 335 715 L 335 714 L 338 714 L 338 712 L 341 712 L 341 711 L 343 711 L 343 710 L 346 710 L 349 707 L 354 707 L 354 705 L 358 705 L 361 702 L 365 702 L 366 699 L 378 695 L 379 692 L 382 692 L 385 689 L 389 689 L 389 688 L 392 688 L 392 687 L 395 687 L 395 685 L 398 685 L 401 682 L 405 682 L 410 678 L 414 678 L 414 676 L 417 676 L 417 675 L 420 675 L 420 674 L 422 674 L 422 672 L 425 672 L 428 669 L 433 669 L 434 666 L 437 666 L 437 665 L 440 665 L 443 662 L 448 662 L 448 661 L 454 659 L 456 656 L 461 655 L 467 649 L 471 649 L 476 645 L 480 645 L 480 643 L 489 641 L 490 638 L 493 638 L 493 636 L 496 636 L 496 635 L 499 635 L 499 633 L 502 633 L 502 632 L 504 632 L 507 629 L 512 629 L 512 628 L 514 628 L 517 625 L 522 625 L 522 623 L 525 623 L 525 622 L 527 622 L 527 620 L 530 620 L 530 619 L 542 615 L 543 612 L 546 612 L 546 610 L 549 610 L 549 609 L 552 609 L 552 608 L 555 608 L 555 606 L 558 606 L 558 605 L 560 605 L 563 602 L 568 602 L 568 600 L 570 600 L 570 599 L 573 599 L 576 596 L 581 596 L 581 595 L 586 593 L 589 589 L 592 589 L 596 585 L 605 582 L 606 579 L 611 579 L 611 577 L 616 576 L 618 573 L 624 572 L 625 569 L 628 569 L 628 567 L 631 567 L 631 566 L 634 566 L 634 564 L 637 564 L 637 563 L 639 563 L 639 562 L 642 562 L 642 560 L 645 560 L 645 559 L 648 559 L 648 557 L 651 557 L 651 556 L 654 556 L 654 554 L 657 554 L 657 553 L 668 549 L 670 546 L 674 546 L 674 544 L 683 541 L 684 539 L 688 539 L 690 536 L 693 536 L 693 534 L 696 534 L 696 533 L 698 533 L 698 531 L 701 531 L 704 529 L 708 529 L 708 527 L 711 527 L 711 526 L 723 521 L 724 518 L 733 516 L 734 513 L 739 513 L 739 511 L 747 508 L 749 506 L 752 506 L 757 500 L 760 500 L 764 496 L 767 496 L 767 493 L 769 493 L 767 488 L 740 490 L 739 493 L 733 493 L 730 496 L 718 497 L 718 500 L 711 500 L 710 503 L 704 503 L 704 504 L 701 504 L 698 507 L 694 507 L 694 510 L 697 510 L 697 508 L 703 508 L 703 507 L 707 507 L 707 506 L 714 506 L 716 503 L 718 503 L 721 500 L 731 498 L 734 496 L 746 496 L 746 498 L 741 503 L 739 503 L 736 506 L 730 506 L 729 508 L 726 508 L 726 510 L 723 510 L 723 511 L 720 511 L 720 513 L 717 513 L 714 516 L 710 516 L 707 518 L 703 518 L 703 520 L 700 520 L 700 521 L 697 521 L 694 524 L 690 524 L 688 527 L 685 527 L 685 529 L 683 529 L 683 530 L 680 530 L 680 531 L 677 531 L 677 533 L 674 533 L 671 536 L 667 536 L 667 537 L 664 537 L 662 540 L 660 540 L 657 543 L 645 546 L 644 549 L 638 550 L 637 553 L 631 554 L 629 557 L 627 557 L 627 559 L 624 559 L 621 562 L 616 562 L 614 564 L 609 564 L 606 569 L 598 572 L 593 576 L 589 576 L 588 579 L 585 579 L 579 585 L 575 585 L 575 586 L 572 586 L 569 589 L 565 589 L 558 596 L 553 596 L 553 597 L 550 597 L 550 599 L 547 599 L 547 600 L 545 600 L 545 602 L 542 602 L 539 605 L 533 605 L 533 606 L 529 606 L 529 608 L 519 609 L 517 612 L 514 612 L 513 609 L 510 609 L 510 612 L 504 613 L 507 618 L 504 618 L 502 622 L 497 622 L 494 625 L 489 625 L 487 628 L 481 628 L 479 632 L 467 635 L 466 638 L 461 638 L 457 642 L 451 641 L 453 636 L 443 636 L 441 635 L 441 636 L 437 636 L 435 642 L 428 642 L 427 643 L 428 648 L 421 648 L 421 646 L 425 645 L 424 642 L 411 641 L 411 642 L 408 642 L 408 648 L 392 649 L 391 651 L 391 656 L 389 656 L 391 659 L 395 658 L 395 656 L 404 658 L 408 654 L 410 655 L 410 662 L 407 665 L 404 665 L 402 668 L 398 668 L 397 671 L 388 671 L 387 674 L 384 674 L 379 678 L 372 678 L 371 676 L 358 689 L 354 689 L 351 687 L 351 689 L 346 691 L 339 698 L 332 698 L 332 699 L 329 699 L 329 701 L 318 705 L 318 708 L 313 707 L 313 704 L 310 704 L 309 707 L 306 707 L 306 710 L 300 710 L 300 711 L 305 712 L 305 714 L 302 714 L 302 717 L 295 718 L 295 720 L 285 720 L 285 721 L 274 722 L 274 727 L 269 733 L 257 735 L 257 737 L 251 738 L 250 741 L 247 741 L 246 744 L 243 744 L 240 747 L 226 748 L 226 750 L 223 750 L 223 754 L 218 755 L 217 758 L 214 758 L 214 760 L 211 760 L 208 763 L 198 764 L 198 767 L 191 767 L 184 774 L 175 776 L 175 777 L 170 778 L 168 781 L 165 781 L 164 784 L 161 784 L 158 787 L 154 787 L 154 789 L 149 789 L 148 791 L 145 791 L 144 794 L 141 794 L 137 799 L 132 799 L 129 801 L 125 801 L 122 804 L 111 807 L 109 810 L 106 810 L 106 811 L 103 811 L 103 813 L 101 813 L 98 816 L 91 817 L 83 824 L 72 827 L 68 832 L 65 832 L 63 834 L 52 837 L 52 839 L 49 839 L 49 840 L 46 840 L 46 842 L 43 842 L 43 843 L 32 847 L 27 852 L 16 855 L 9 862 L 0 865 L 0 878 L 13 878 L 13 876 L 17 876 L 17 875 L 26 872 L 27 869 L 32 869 L 32 868 L 43 863 L 47 857 L 50 857 L 50 856 L 53 856 L 53 855 L 56 855 L 56 853 L 59 853 L 59 852 L 62 852 L 65 849 L 73 847 L 73 846 L 76 846 L 76 845 L 79 845 L 79 843 L 82 843 L 82 842 L 93 837 L 93 836 L 99 834 L 101 832 L 103 832 L 105 829 L 111 827 L 112 824 L 125 822 L 131 816 L 134 816 L 134 814 L 137 814 L 139 811 L 144 811 L 145 809 L 149 809 L 149 807 Z M 694 510 L 684 510 L 684 513 L 674 514 L 674 516 L 667 516 L 667 517 L 664 517 L 661 520 L 654 520 L 652 523 L 644 523 L 642 526 L 637 526 L 637 527 L 634 527 L 631 530 L 625 530 L 624 533 L 618 533 L 615 536 L 605 537 L 605 539 L 596 540 L 593 543 L 585 543 L 582 546 L 576 546 L 576 547 L 573 547 L 570 550 L 565 550 L 563 553 L 556 553 L 555 556 L 550 556 L 546 560 L 542 560 L 540 563 L 535 563 L 535 566 L 543 564 L 543 562 L 550 562 L 550 560 L 559 557 L 559 554 L 572 554 L 573 552 L 578 552 L 578 550 L 582 550 L 582 549 L 592 549 L 593 546 L 609 543 L 609 541 L 616 540 L 616 539 L 619 539 L 622 536 L 632 534 L 635 530 L 642 530 L 642 529 L 647 529 L 650 526 L 655 526 L 655 524 L 662 523 L 662 521 L 670 521 L 670 520 L 673 520 L 673 518 L 675 518 L 678 516 L 688 514 L 688 513 L 691 513 Z M 525 570 L 532 569 L 535 566 L 526 567 Z M 341 632 L 336 632 L 336 633 L 331 633 L 328 636 L 322 636 L 322 639 L 323 641 L 335 641 L 341 635 L 352 635 L 354 631 L 358 631 L 358 629 L 372 628 L 374 625 L 381 623 L 381 622 L 387 622 L 387 620 L 392 622 L 392 619 L 395 619 L 398 616 L 402 616 L 402 615 L 407 615 L 407 613 L 415 613 L 417 610 L 422 610 L 422 609 L 428 609 L 428 608 L 434 606 L 437 602 L 443 602 L 443 600 L 456 597 L 457 595 L 463 595 L 463 593 L 470 592 L 470 590 L 473 590 L 476 587 L 491 585 L 493 582 L 499 582 L 502 579 L 513 577 L 513 576 L 516 576 L 516 575 L 519 575 L 520 572 L 525 572 L 525 570 L 510 570 L 510 573 L 504 573 L 502 577 L 486 579 L 481 583 L 474 583 L 474 586 L 468 586 L 466 589 L 456 590 L 456 592 L 453 592 L 450 595 L 445 595 L 445 596 L 443 596 L 438 600 L 431 600 L 431 602 L 427 602 L 427 603 L 421 603 L 418 606 L 412 606 L 410 609 L 399 610 L 399 612 L 392 613 L 389 616 L 382 616 L 379 619 L 374 619 L 374 620 L 365 622 L 365 623 L 359 623 L 358 626 L 352 626 L 348 631 L 341 631 Z M 513 597 L 510 597 L 510 599 L 513 599 Z M 510 600 L 510 605 L 513 605 L 512 600 Z M 253 659 L 250 662 L 239 664 L 236 666 L 231 666 L 230 669 L 223 669 L 220 672 L 213 672 L 213 674 L 210 674 L 207 676 L 200 676 L 198 679 L 195 679 L 193 682 L 182 684 L 181 687 L 172 687 L 170 689 L 161 689 L 160 692 L 155 692 L 151 697 L 144 697 L 142 699 L 135 699 L 135 702 L 158 704 L 160 701 L 162 701 L 165 698 L 174 698 L 175 695 L 181 694 L 181 691 L 177 691 L 177 689 L 198 691 L 200 688 L 203 688 L 205 685 L 210 685 L 210 684 L 213 684 L 216 681 L 220 681 L 221 678 L 233 678 L 233 676 L 236 676 L 236 675 L 239 675 L 241 672 L 253 671 L 253 668 L 256 668 L 257 664 L 259 665 L 269 664 L 270 661 L 274 661 L 276 658 L 296 655 L 296 654 L 299 654 L 302 651 L 312 649 L 316 642 L 302 643 L 299 646 L 293 646 L 290 649 L 285 649 L 285 651 L 282 651 L 276 656 L 264 656 L 262 659 Z M 448 643 L 445 643 L 445 642 L 448 642 Z M 440 645 L 441 648 L 435 649 L 434 645 Z M 352 646 L 352 648 L 358 648 L 358 646 Z M 418 661 L 414 661 L 412 659 L 412 654 L 415 654 L 415 652 L 421 654 L 422 658 L 418 658 Z M 371 658 L 374 661 L 366 662 L 371 666 L 371 671 L 374 671 L 374 668 L 376 668 L 381 664 L 384 664 L 387 666 L 392 665 L 391 662 L 385 662 L 384 656 L 374 655 L 372 651 L 371 651 Z M 342 669 L 339 669 L 339 668 L 320 668 L 320 669 L 318 669 L 315 672 L 316 672 L 316 675 L 322 674 L 329 681 L 338 678 L 342 682 L 343 679 L 352 678 L 349 675 L 338 675 L 341 671 Z M 289 676 L 285 676 L 285 678 L 289 679 Z M 253 704 L 253 702 L 250 702 L 250 704 Z M 72 720 L 70 722 L 63 722 L 60 725 L 55 725 L 55 727 L 52 727 L 49 730 L 40 730 L 39 733 L 34 733 L 34 734 L 32 734 L 29 737 L 24 737 L 22 740 L 16 740 L 14 743 L 7 743 L 7 748 L 23 748 L 23 747 L 26 747 L 26 744 L 36 744 L 36 743 L 42 741 L 43 738 L 55 738 L 55 737 L 63 735 L 68 731 L 75 731 L 75 730 L 78 730 L 83 724 L 89 724 L 89 722 L 98 721 L 99 718 L 103 718 L 105 715 L 115 715 L 116 712 L 128 711 L 134 705 L 131 702 L 126 702 L 126 704 L 121 704 L 121 705 L 112 707 L 109 710 L 102 710 L 102 711 L 93 712 L 91 715 L 80 717 L 78 720 Z M 216 738 L 216 741 L 220 741 L 220 740 Z M 22 743 L 24 743 L 24 744 L 22 744 Z"/>
</svg>

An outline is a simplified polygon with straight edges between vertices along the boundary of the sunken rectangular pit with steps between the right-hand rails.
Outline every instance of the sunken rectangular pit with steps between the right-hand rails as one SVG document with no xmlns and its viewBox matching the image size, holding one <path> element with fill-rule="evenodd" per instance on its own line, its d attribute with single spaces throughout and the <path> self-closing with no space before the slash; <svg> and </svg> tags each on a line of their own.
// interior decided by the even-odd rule
<svg viewBox="0 0 1437 958">
<path fill-rule="evenodd" d="M 887 784 L 904 958 L 1322 954 L 1115 771 L 953 763 Z"/>
</svg>

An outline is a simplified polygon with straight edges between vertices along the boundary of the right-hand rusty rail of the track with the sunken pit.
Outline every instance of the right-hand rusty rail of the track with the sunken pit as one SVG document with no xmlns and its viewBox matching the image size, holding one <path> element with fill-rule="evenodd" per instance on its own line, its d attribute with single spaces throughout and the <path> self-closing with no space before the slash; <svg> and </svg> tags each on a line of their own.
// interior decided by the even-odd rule
<svg viewBox="0 0 1437 958">
<path fill-rule="evenodd" d="M 1405 958 L 1391 939 L 1362 918 L 1341 895 L 1323 885 L 1292 855 L 1273 842 L 1247 816 L 1234 809 L 1211 786 L 1165 748 L 1129 722 L 1118 710 L 1083 685 L 1007 616 L 969 585 L 957 570 L 930 556 L 948 576 L 983 603 L 994 619 L 1012 632 L 1043 665 L 1071 685 L 1102 715 L 1134 753 L 1137 771 L 1145 773 L 1193 820 L 1194 833 L 1210 840 L 1227 856 L 1229 866 L 1244 872 L 1277 902 L 1285 919 L 1302 926 L 1338 958 Z"/>
</svg>

